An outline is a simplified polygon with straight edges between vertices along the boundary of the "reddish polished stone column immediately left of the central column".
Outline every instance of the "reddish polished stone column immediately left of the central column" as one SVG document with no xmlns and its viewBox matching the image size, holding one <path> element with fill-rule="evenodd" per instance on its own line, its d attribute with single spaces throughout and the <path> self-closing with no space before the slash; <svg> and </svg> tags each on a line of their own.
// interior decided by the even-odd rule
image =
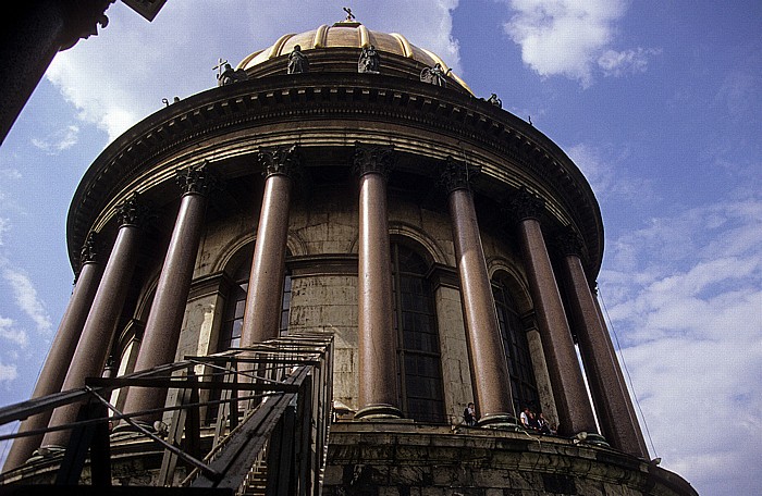
<svg viewBox="0 0 762 496">
<path fill-rule="evenodd" d="M 242 348 L 279 334 L 292 175 L 299 165 L 296 146 L 262 150 L 259 161 L 267 179 L 241 331 Z"/>
</svg>

